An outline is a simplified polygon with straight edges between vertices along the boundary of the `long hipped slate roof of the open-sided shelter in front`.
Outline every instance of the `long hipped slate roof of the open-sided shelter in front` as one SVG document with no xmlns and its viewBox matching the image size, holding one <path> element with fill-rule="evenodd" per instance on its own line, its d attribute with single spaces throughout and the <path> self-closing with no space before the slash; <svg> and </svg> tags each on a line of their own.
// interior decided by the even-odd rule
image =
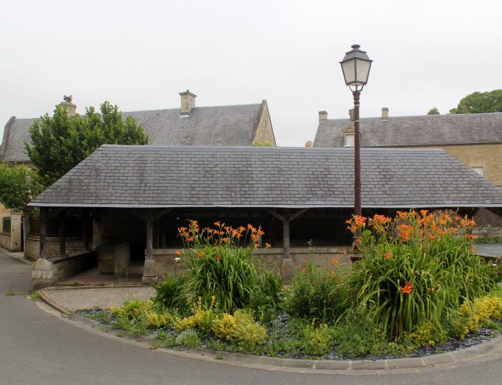
<svg viewBox="0 0 502 385">
<path fill-rule="evenodd" d="M 361 153 L 363 207 L 502 207 L 440 149 Z M 105 145 L 30 206 L 351 208 L 353 148 Z"/>
</svg>

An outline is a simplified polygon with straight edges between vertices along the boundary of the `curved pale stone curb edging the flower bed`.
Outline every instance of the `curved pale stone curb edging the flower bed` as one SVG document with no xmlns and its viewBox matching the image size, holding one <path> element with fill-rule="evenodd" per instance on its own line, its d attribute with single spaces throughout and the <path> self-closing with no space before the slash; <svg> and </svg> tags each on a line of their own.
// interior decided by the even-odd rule
<svg viewBox="0 0 502 385">
<path fill-rule="evenodd" d="M 73 288 L 79 289 L 81 287 Z M 54 307 L 54 309 L 60 311 L 65 315 L 72 314 L 67 311 L 67 309 L 64 309 L 63 307 L 54 303 L 54 301 L 47 298 L 41 291 L 39 291 L 39 294 L 41 295 L 41 298 L 44 300 L 44 302 L 47 303 L 47 305 Z M 127 333 L 127 331 L 99 324 L 98 322 L 89 318 L 85 318 L 83 316 L 78 316 L 78 320 L 92 327 L 99 325 L 99 329 L 107 333 Z M 137 340 L 142 340 L 143 342 L 149 344 L 156 344 L 158 342 L 158 340 L 155 340 L 155 338 L 151 336 L 129 334 L 129 337 L 135 338 Z M 166 349 L 166 351 L 171 350 L 172 349 Z M 210 349 L 191 349 L 186 353 L 188 355 L 193 355 L 193 358 L 198 358 L 201 355 L 204 357 L 209 356 L 215 358 L 217 355 L 219 355 L 224 360 L 241 362 L 243 364 L 274 366 L 278 369 L 315 369 L 322 373 L 323 371 L 391 371 L 393 369 L 424 369 L 431 366 L 472 360 L 483 355 L 494 353 L 494 351 L 502 353 L 502 336 L 496 337 L 493 340 L 487 342 L 482 342 L 475 347 L 459 349 L 457 351 L 427 355 L 419 358 L 395 358 L 389 360 L 294 360 L 290 358 L 266 357 L 263 355 L 247 355 L 225 351 L 213 351 Z"/>
</svg>

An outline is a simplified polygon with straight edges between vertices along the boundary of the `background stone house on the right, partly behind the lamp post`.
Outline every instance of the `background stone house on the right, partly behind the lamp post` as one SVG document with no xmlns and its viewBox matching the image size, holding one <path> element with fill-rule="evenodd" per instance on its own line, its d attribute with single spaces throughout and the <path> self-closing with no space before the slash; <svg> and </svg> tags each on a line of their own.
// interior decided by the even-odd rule
<svg viewBox="0 0 502 385">
<path fill-rule="evenodd" d="M 360 120 L 362 147 L 442 148 L 502 188 L 502 113 L 389 116 Z M 319 112 L 314 147 L 353 146 L 350 119 L 328 119 Z M 479 210 L 476 221 L 502 227 L 502 218 Z"/>
</svg>

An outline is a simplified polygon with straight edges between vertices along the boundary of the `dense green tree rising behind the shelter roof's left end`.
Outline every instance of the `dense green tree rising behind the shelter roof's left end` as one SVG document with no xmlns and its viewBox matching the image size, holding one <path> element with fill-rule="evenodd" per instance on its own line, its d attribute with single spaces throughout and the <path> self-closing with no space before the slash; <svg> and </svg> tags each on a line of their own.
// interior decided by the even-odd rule
<svg viewBox="0 0 502 385">
<path fill-rule="evenodd" d="M 148 144 L 148 135 L 132 116 L 122 119 L 116 105 L 104 102 L 101 113 L 87 107 L 85 115 L 69 117 L 64 106 L 54 109 L 30 127 L 26 143 L 36 175 L 47 187 L 74 168 L 102 144 Z"/>
</svg>

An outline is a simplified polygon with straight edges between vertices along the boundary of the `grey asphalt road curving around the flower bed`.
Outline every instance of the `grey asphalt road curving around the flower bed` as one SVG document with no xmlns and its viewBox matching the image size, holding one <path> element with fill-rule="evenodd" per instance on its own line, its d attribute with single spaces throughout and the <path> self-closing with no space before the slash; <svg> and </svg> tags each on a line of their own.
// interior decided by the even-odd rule
<svg viewBox="0 0 502 385">
<path fill-rule="evenodd" d="M 30 266 L 0 252 L 0 384 L 441 384 L 500 385 L 502 360 L 423 373 L 325 375 L 204 362 L 106 338 L 47 314 L 25 296 Z"/>
</svg>

